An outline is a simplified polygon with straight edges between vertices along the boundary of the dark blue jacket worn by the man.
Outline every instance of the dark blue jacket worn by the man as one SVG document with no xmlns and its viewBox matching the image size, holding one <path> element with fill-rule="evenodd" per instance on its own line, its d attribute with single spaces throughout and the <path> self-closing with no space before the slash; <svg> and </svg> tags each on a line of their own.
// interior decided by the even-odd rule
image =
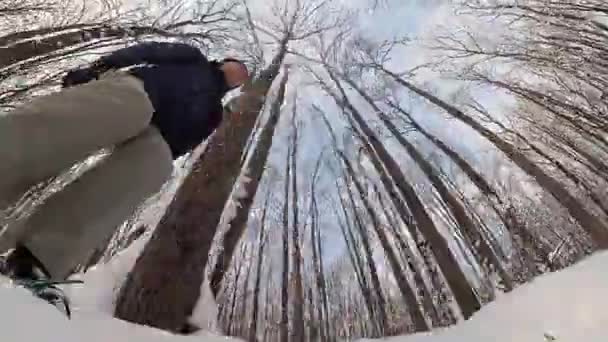
<svg viewBox="0 0 608 342">
<path fill-rule="evenodd" d="M 178 158 L 209 137 L 222 120 L 222 97 L 229 89 L 219 65 L 187 44 L 142 43 L 100 58 L 80 75 L 68 74 L 64 84 L 135 66 L 129 72 L 144 83 L 155 109 L 152 124 Z"/>
</svg>

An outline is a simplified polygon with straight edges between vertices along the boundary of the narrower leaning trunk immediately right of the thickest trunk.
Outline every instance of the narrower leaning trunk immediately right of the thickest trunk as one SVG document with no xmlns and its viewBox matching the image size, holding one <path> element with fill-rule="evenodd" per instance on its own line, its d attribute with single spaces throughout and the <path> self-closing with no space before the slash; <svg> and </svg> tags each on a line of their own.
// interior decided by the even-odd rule
<svg viewBox="0 0 608 342">
<path fill-rule="evenodd" d="M 260 132 L 251 158 L 244 167 L 245 170 L 248 170 L 246 176 L 249 178 L 249 181 L 243 184 L 245 195 L 240 198 L 241 205 L 237 208 L 236 215 L 231 221 L 230 228 L 228 228 L 228 231 L 224 236 L 222 242 L 223 248 L 220 249 L 215 268 L 210 277 L 211 290 L 215 296 L 217 296 L 219 289 L 221 288 L 222 279 L 224 278 L 226 270 L 230 268 L 230 262 L 236 245 L 247 227 L 249 211 L 251 210 L 260 181 L 262 180 L 264 170 L 266 169 L 266 162 L 268 161 L 268 155 L 270 154 L 270 148 L 272 147 L 274 132 L 281 116 L 281 105 L 285 100 L 287 80 L 288 71 L 285 70 L 281 83 L 279 84 L 276 98 L 270 108 L 268 121 L 262 128 L 262 132 Z"/>
</svg>

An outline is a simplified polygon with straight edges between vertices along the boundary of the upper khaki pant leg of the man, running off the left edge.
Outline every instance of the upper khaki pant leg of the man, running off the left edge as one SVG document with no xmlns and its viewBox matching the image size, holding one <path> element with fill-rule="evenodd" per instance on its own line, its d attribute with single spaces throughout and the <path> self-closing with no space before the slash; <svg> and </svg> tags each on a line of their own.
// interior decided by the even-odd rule
<svg viewBox="0 0 608 342">
<path fill-rule="evenodd" d="M 143 83 L 123 73 L 0 115 L 0 210 L 89 154 L 143 132 L 153 112 Z"/>
</svg>

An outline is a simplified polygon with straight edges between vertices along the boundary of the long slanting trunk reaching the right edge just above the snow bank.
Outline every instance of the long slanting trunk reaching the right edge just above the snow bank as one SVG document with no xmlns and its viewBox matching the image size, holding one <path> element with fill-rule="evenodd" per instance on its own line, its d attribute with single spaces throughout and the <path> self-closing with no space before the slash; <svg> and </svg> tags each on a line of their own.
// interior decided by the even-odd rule
<svg viewBox="0 0 608 342">
<path fill-rule="evenodd" d="M 420 95 L 439 108 L 442 108 L 448 114 L 465 123 L 484 138 L 492 142 L 517 166 L 532 176 L 545 191 L 553 195 L 553 197 L 568 210 L 570 215 L 578 222 L 578 224 L 593 237 L 594 242 L 599 248 L 608 248 L 608 227 L 606 227 L 606 224 L 585 209 L 584 205 L 577 200 L 562 184 L 560 184 L 559 181 L 545 173 L 538 165 L 518 151 L 517 148 L 501 139 L 496 133 L 484 127 L 458 108 L 451 106 L 431 93 L 414 86 L 413 84 L 399 77 L 399 75 L 383 67 L 381 67 L 381 70 L 387 75 L 391 76 L 397 83 Z"/>
</svg>

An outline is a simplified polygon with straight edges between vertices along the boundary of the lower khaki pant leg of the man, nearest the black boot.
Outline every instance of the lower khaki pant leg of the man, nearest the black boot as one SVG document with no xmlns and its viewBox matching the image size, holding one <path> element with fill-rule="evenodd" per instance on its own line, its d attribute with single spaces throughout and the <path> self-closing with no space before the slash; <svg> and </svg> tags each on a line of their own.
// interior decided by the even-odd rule
<svg viewBox="0 0 608 342">
<path fill-rule="evenodd" d="M 54 194 L 20 230 L 20 242 L 62 279 L 86 261 L 171 176 L 173 159 L 150 127 Z"/>
</svg>

